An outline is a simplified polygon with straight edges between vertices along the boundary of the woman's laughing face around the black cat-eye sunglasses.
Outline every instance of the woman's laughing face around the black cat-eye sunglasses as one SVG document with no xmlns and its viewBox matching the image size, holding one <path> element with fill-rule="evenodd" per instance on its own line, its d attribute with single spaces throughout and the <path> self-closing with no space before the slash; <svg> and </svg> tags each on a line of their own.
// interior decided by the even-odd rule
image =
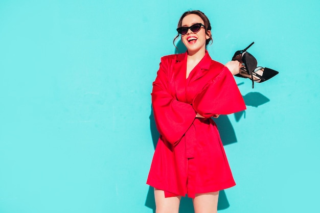
<svg viewBox="0 0 320 213">
<path fill-rule="evenodd" d="M 196 14 L 189 14 L 182 19 L 181 27 L 190 27 L 195 23 L 202 23 L 204 22 L 202 18 Z M 208 33 L 211 32 L 208 30 Z M 195 54 L 198 51 L 205 51 L 205 41 L 210 37 L 205 34 L 205 29 L 201 27 L 201 29 L 194 33 L 190 29 L 188 30 L 187 34 L 181 35 L 181 40 L 185 44 L 188 54 Z"/>
</svg>

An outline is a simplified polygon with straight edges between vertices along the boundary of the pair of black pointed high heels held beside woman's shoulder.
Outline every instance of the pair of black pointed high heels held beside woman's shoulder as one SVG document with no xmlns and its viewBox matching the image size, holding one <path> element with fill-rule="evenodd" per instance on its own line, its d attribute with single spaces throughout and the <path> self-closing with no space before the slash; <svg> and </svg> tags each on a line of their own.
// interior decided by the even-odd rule
<svg viewBox="0 0 320 213">
<path fill-rule="evenodd" d="M 262 83 L 276 76 L 279 73 L 278 71 L 267 67 L 257 67 L 257 59 L 250 53 L 246 52 L 254 43 L 255 42 L 252 42 L 245 49 L 237 51 L 235 55 L 232 57 L 232 60 L 239 61 L 244 65 L 244 67 L 240 69 L 240 74 L 237 74 L 235 76 L 251 79 L 252 88 L 254 88 L 254 82 Z"/>
</svg>

